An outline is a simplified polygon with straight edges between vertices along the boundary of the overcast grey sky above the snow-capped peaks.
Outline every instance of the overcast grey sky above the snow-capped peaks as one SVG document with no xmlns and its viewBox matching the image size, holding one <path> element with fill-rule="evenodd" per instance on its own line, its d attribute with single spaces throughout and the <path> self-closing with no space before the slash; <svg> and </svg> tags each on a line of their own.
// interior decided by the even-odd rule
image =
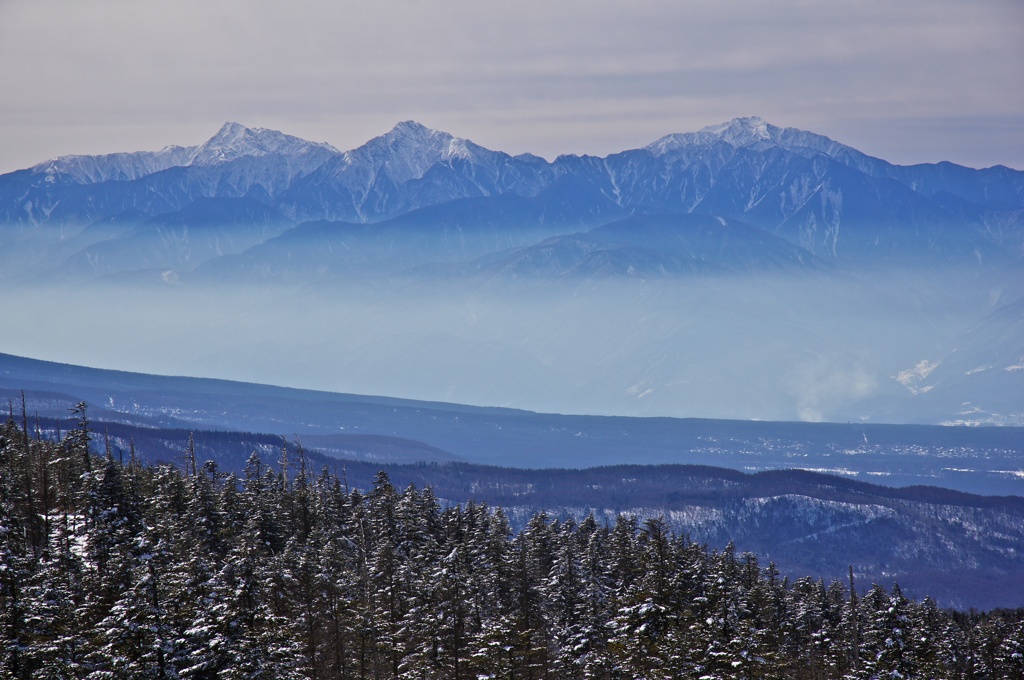
<svg viewBox="0 0 1024 680">
<path fill-rule="evenodd" d="M 0 172 L 417 120 L 609 153 L 758 115 L 894 163 L 1024 169 L 1024 2 L 0 0 Z"/>
</svg>

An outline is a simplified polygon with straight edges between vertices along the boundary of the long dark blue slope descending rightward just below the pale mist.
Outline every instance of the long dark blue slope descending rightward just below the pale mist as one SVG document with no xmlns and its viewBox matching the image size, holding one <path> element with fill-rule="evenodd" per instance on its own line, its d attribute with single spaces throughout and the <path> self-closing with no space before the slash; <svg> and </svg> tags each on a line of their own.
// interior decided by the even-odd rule
<svg viewBox="0 0 1024 680">
<path fill-rule="evenodd" d="M 1024 428 L 772 423 L 536 414 L 198 378 L 84 369 L 0 354 L 0 396 L 62 417 L 78 400 L 97 421 L 294 436 L 373 434 L 474 463 L 592 467 L 701 464 L 800 467 L 893 485 L 1024 496 Z"/>
</svg>

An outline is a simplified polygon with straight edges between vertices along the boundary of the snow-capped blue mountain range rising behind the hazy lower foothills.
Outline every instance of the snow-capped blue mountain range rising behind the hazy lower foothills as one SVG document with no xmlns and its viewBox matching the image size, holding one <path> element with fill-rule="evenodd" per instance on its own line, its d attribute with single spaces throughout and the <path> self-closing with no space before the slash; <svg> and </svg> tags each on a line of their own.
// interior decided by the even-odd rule
<svg viewBox="0 0 1024 680">
<path fill-rule="evenodd" d="M 20 227 L 18 238 L 33 231 L 46 244 L 41 232 L 47 230 L 59 228 L 66 241 L 94 223 L 140 216 L 232 223 L 223 214 L 225 199 L 257 202 L 285 225 L 376 223 L 432 207 L 413 218 L 425 227 L 458 221 L 466 211 L 460 202 L 475 200 L 478 210 L 503 212 L 505 223 L 549 235 L 638 214 L 714 215 L 839 262 L 973 258 L 1001 264 L 1019 260 L 1024 244 L 1024 172 L 894 166 L 758 118 L 669 135 L 606 158 L 563 156 L 550 163 L 413 122 L 344 153 L 228 123 L 195 147 L 62 157 L 0 176 L 0 224 L 11 233 Z M 482 207 L 492 201 L 498 205 Z M 95 240 L 83 249 L 104 240 L 95 229 L 83 236 Z M 221 254 L 234 252 L 241 251 Z M 205 261 L 197 256 L 177 265 L 189 270 Z M 132 266 L 131 260 L 121 266 Z"/>
</svg>

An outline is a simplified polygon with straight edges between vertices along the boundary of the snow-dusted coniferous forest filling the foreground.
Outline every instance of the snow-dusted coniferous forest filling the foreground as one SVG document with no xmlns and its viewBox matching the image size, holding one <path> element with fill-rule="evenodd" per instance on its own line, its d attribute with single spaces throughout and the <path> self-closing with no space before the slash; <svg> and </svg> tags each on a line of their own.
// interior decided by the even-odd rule
<svg viewBox="0 0 1024 680">
<path fill-rule="evenodd" d="M 0 429 L 3 678 L 1024 677 L 1022 610 L 790 581 L 657 519 L 514 532 L 287 450 L 142 465 L 76 416 Z"/>
</svg>

